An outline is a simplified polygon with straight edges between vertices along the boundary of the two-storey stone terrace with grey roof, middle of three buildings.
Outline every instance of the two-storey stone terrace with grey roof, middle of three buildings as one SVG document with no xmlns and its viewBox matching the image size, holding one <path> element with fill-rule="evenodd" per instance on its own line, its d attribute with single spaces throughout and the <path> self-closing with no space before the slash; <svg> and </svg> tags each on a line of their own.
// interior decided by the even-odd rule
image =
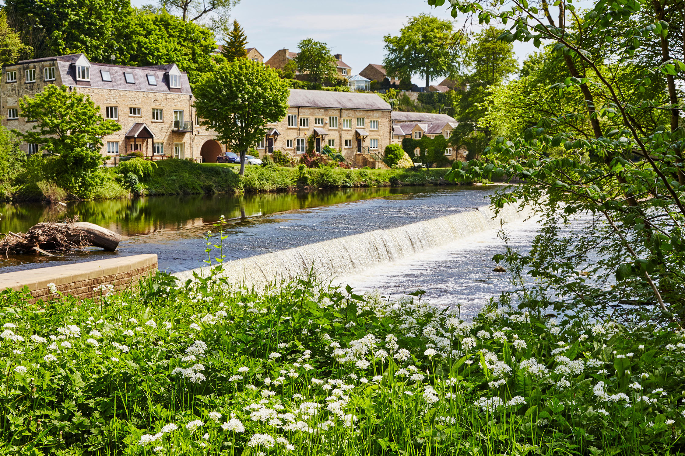
<svg viewBox="0 0 685 456">
<path fill-rule="evenodd" d="M 393 141 L 392 107 L 376 94 L 290 89 L 288 105 L 286 117 L 269 124 L 257 146 L 260 155 L 280 150 L 297 158 L 313 136 L 317 152 L 330 146 L 360 165 L 364 157 L 382 153 Z"/>
</svg>

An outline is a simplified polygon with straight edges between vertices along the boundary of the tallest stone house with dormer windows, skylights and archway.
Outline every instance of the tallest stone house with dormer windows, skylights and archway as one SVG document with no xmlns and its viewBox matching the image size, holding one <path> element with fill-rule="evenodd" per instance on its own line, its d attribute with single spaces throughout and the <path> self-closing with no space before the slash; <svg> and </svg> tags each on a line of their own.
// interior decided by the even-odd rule
<svg viewBox="0 0 685 456">
<path fill-rule="evenodd" d="M 32 129 L 34 123 L 21 117 L 18 100 L 41 92 L 48 84 L 66 85 L 70 91 L 89 95 L 103 118 L 121 124 L 121 130 L 103 137 L 101 152 L 110 164 L 133 151 L 150 159 L 195 161 L 203 157 L 215 161 L 225 151 L 214 141 L 212 131 L 195 124 L 188 76 L 175 64 L 97 64 L 84 54 L 73 54 L 5 65 L 0 81 L 3 125 L 22 132 Z M 28 154 L 40 150 L 38 144 L 21 148 Z"/>
</svg>

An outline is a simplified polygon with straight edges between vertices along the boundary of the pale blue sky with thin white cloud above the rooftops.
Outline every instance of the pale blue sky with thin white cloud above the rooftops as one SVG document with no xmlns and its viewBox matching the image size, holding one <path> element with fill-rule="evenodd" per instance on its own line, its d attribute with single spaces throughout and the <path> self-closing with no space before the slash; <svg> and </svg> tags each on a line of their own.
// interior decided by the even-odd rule
<svg viewBox="0 0 685 456">
<path fill-rule="evenodd" d="M 343 61 L 357 74 L 367 64 L 382 64 L 383 37 L 396 35 L 408 16 L 422 12 L 451 20 L 444 7 L 431 8 L 425 0 L 242 0 L 232 10 L 232 18 L 245 29 L 248 46 L 256 47 L 265 60 L 278 49 L 297 52 L 300 40 L 314 38 L 326 42 L 333 53 L 343 54 Z M 461 28 L 463 22 L 458 19 L 455 27 Z M 534 50 L 525 44 L 515 49 L 519 62 Z M 412 80 L 425 85 L 420 76 Z"/>
</svg>

